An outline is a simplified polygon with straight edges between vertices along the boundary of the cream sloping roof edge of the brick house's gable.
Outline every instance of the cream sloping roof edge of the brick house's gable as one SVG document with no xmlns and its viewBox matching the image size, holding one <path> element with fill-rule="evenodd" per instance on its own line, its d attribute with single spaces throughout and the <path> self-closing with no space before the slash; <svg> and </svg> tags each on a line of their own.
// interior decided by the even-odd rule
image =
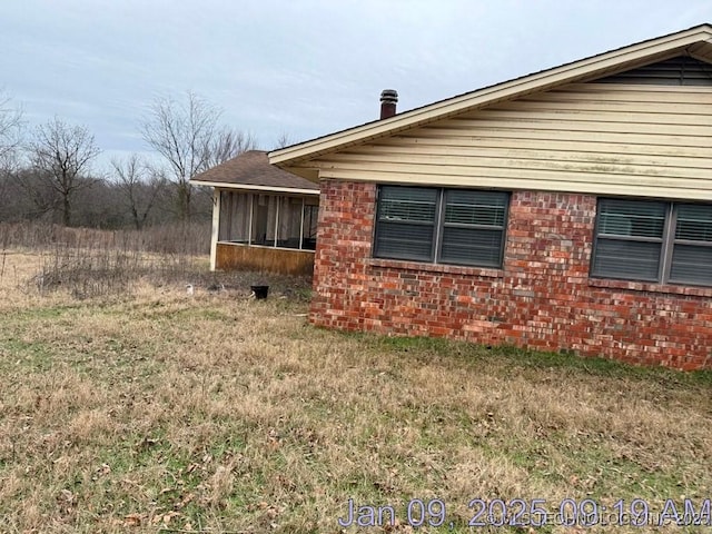
<svg viewBox="0 0 712 534">
<path fill-rule="evenodd" d="M 398 131 L 473 111 L 495 102 L 548 90 L 564 83 L 591 81 L 676 56 L 690 56 L 712 63 L 712 26 L 709 23 L 695 26 L 688 30 L 484 87 L 395 115 L 388 119 L 374 120 L 355 128 L 274 150 L 268 155 L 269 162 L 305 178 L 316 179 L 316 170 L 309 169 L 308 165 L 300 166 L 300 164 L 304 165 L 310 159 L 339 151 L 346 147 L 388 137 Z"/>
</svg>

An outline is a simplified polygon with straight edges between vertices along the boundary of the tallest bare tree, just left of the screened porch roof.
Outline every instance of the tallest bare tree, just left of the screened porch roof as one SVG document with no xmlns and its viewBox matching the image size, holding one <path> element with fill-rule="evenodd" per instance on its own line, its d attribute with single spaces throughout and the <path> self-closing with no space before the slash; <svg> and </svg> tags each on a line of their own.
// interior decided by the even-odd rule
<svg viewBox="0 0 712 534">
<path fill-rule="evenodd" d="M 146 142 L 160 154 L 176 186 L 178 215 L 190 218 L 190 178 L 255 145 L 251 136 L 220 128 L 221 110 L 188 91 L 186 100 L 157 99 L 141 122 Z"/>
</svg>

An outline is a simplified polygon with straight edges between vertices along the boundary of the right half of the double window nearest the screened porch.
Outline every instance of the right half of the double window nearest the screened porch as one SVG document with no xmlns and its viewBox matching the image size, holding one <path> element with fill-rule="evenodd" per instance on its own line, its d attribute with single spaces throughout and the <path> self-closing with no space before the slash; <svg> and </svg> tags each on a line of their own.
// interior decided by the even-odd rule
<svg viewBox="0 0 712 534">
<path fill-rule="evenodd" d="M 507 205 L 506 192 L 445 190 L 441 261 L 500 267 Z"/>
</svg>

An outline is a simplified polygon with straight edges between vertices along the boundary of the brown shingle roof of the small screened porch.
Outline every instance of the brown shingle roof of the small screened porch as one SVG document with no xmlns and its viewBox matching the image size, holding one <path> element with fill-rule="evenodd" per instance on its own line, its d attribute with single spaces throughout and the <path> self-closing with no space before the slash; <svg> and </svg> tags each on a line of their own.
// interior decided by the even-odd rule
<svg viewBox="0 0 712 534">
<path fill-rule="evenodd" d="M 291 172 L 269 165 L 267 152 L 248 150 L 236 158 L 194 176 L 190 182 L 225 189 L 318 195 L 319 187 Z"/>
</svg>

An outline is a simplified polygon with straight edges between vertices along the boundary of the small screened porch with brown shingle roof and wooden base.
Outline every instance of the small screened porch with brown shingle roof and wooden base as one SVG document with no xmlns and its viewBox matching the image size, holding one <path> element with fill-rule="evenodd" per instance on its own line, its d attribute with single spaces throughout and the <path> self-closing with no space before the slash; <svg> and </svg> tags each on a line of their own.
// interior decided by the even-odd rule
<svg viewBox="0 0 712 534">
<path fill-rule="evenodd" d="M 244 152 L 190 182 L 214 188 L 210 270 L 312 274 L 318 185 L 269 165 L 263 150 Z"/>
</svg>

